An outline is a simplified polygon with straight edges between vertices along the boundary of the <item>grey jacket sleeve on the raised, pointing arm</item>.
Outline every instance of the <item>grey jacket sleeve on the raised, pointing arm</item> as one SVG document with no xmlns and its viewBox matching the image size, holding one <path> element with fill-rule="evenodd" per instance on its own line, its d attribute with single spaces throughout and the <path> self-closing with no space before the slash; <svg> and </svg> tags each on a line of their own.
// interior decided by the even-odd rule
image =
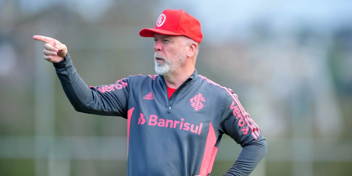
<svg viewBox="0 0 352 176">
<path fill-rule="evenodd" d="M 118 80 L 115 84 L 88 87 L 78 75 L 69 54 L 53 64 L 62 88 L 76 111 L 127 119 L 130 77 Z"/>
</svg>

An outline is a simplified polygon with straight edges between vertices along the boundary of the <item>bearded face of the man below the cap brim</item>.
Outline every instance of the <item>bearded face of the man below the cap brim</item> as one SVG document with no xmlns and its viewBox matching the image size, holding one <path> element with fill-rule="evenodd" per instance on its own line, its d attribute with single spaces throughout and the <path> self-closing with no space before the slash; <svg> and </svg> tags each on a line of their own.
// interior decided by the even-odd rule
<svg viewBox="0 0 352 176">
<path fill-rule="evenodd" d="M 158 75 L 167 76 L 183 65 L 186 46 L 180 36 L 155 33 L 154 41 L 155 71 Z"/>
</svg>

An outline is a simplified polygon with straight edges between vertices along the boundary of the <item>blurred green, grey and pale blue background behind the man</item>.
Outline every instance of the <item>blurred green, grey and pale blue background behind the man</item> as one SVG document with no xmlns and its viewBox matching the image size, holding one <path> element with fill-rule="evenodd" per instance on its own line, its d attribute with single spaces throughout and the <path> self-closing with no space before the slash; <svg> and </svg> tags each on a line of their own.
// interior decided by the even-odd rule
<svg viewBox="0 0 352 176">
<path fill-rule="evenodd" d="M 167 8 L 200 20 L 198 73 L 260 126 L 251 176 L 352 175 L 352 1 L 0 0 L 0 176 L 126 175 L 126 120 L 75 112 L 32 36 L 66 44 L 88 86 L 111 84 L 155 74 L 138 32 Z M 240 150 L 224 136 L 212 176 Z"/>
</svg>

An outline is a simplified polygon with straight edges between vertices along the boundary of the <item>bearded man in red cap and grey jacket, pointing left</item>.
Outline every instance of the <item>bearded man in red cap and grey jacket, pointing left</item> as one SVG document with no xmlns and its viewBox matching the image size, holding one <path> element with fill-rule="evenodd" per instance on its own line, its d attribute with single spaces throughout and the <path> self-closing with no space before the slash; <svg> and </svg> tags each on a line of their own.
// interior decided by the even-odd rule
<svg viewBox="0 0 352 176">
<path fill-rule="evenodd" d="M 231 89 L 197 74 L 199 21 L 182 10 L 165 10 L 155 29 L 139 35 L 155 40 L 158 75 L 98 87 L 83 82 L 64 44 L 33 39 L 46 42 L 44 59 L 54 64 L 76 111 L 127 119 L 127 176 L 210 175 L 222 134 L 243 147 L 225 175 L 249 175 L 265 155 L 265 139 Z"/>
</svg>

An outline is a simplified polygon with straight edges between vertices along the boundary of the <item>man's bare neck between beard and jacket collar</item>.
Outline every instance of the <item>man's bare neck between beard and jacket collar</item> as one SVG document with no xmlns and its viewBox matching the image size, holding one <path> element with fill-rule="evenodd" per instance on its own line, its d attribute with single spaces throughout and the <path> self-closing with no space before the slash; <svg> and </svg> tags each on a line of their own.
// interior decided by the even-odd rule
<svg viewBox="0 0 352 176">
<path fill-rule="evenodd" d="M 194 70 L 194 65 L 189 68 L 181 66 L 171 74 L 164 76 L 166 86 L 172 89 L 177 89 L 194 73 Z"/>
</svg>

